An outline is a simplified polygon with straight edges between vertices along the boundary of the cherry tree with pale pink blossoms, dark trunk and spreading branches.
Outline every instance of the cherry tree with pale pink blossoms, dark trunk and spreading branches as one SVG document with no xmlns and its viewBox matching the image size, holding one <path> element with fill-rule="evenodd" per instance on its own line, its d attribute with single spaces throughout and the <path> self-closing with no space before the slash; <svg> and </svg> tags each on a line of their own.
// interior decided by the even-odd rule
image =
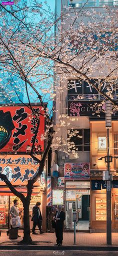
<svg viewBox="0 0 118 256">
<path fill-rule="evenodd" d="M 53 129 L 50 116 L 52 110 L 53 113 L 56 111 L 57 91 L 62 94 L 67 88 L 68 77 L 69 80 L 84 80 L 102 95 L 101 105 L 108 99 L 113 111 L 117 111 L 117 101 L 113 96 L 117 90 L 117 9 L 104 7 L 100 11 L 81 8 L 77 11 L 63 7 L 60 16 L 54 17 L 46 3 L 42 6 L 32 0 L 31 3 L 22 1 L 21 6 L 18 1 L 15 6 L 0 5 L 0 12 L 0 88 L 4 88 L 3 72 L 6 76 L 10 73 L 16 82 L 17 97 L 19 89 L 25 90 L 28 107 L 33 111 L 33 94 L 33 101 L 35 97 L 35 102 L 40 102 L 46 119 L 46 131 L 42 139 L 46 139 L 47 146 L 41 160 L 33 154 L 39 123 L 32 144 L 30 156 L 39 163 L 39 168 L 37 175 L 27 182 L 27 196 L 19 193 L 7 177 L 0 173 L 0 178 L 23 203 L 24 236 L 21 242 L 32 243 L 29 227 L 30 198 L 33 184 L 43 171 L 50 147 L 63 150 L 66 154 L 72 150 L 76 156 L 70 138 L 78 132 L 70 134 L 68 131 L 67 140 L 58 136 L 61 127 L 70 124 L 66 113 L 59 115 L 59 126 Z M 19 81 L 22 81 L 21 88 L 18 86 Z M 53 101 L 51 110 L 45 108 L 45 98 Z"/>
</svg>

